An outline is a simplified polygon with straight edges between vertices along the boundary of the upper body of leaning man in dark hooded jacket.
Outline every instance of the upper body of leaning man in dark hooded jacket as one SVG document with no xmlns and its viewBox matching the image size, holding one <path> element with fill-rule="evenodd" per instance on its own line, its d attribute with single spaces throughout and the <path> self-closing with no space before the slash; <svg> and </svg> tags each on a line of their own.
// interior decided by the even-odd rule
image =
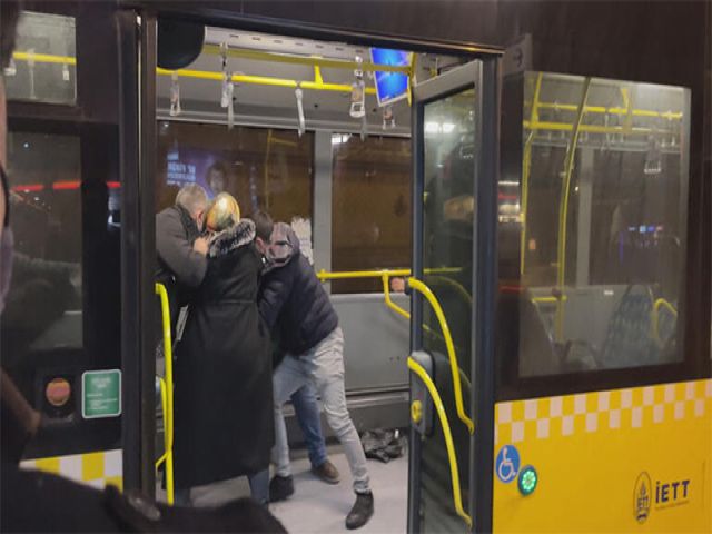
<svg viewBox="0 0 712 534">
<path fill-rule="evenodd" d="M 279 337 L 279 347 L 299 356 L 338 326 L 338 316 L 307 258 L 285 222 L 275 225 L 269 268 L 263 277 L 259 313 Z"/>
</svg>

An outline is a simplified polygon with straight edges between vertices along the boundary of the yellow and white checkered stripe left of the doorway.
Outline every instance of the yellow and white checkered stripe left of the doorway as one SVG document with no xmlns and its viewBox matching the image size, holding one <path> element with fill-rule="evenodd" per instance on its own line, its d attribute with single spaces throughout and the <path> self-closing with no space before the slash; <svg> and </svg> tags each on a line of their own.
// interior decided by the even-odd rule
<svg viewBox="0 0 712 534">
<path fill-rule="evenodd" d="M 98 453 L 29 459 L 20 465 L 28 469 L 39 469 L 61 475 L 97 488 L 107 485 L 122 488 L 123 457 L 121 449 Z"/>
</svg>

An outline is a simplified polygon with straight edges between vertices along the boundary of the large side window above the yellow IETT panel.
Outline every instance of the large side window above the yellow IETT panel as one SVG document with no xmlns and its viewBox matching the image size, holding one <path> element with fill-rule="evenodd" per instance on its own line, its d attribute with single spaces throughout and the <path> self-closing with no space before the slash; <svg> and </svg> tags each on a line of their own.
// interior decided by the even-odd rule
<svg viewBox="0 0 712 534">
<path fill-rule="evenodd" d="M 682 359 L 689 112 L 682 88 L 526 75 L 520 376 Z"/>
</svg>

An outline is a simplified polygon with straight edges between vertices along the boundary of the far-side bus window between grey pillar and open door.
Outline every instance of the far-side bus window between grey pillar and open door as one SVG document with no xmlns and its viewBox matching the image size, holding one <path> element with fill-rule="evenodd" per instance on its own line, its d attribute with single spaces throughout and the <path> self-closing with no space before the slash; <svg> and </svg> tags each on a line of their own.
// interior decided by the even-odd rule
<svg viewBox="0 0 712 534">
<path fill-rule="evenodd" d="M 411 140 L 335 135 L 332 148 L 333 269 L 408 268 Z M 332 283 L 333 293 L 382 290 L 380 280 Z"/>
</svg>

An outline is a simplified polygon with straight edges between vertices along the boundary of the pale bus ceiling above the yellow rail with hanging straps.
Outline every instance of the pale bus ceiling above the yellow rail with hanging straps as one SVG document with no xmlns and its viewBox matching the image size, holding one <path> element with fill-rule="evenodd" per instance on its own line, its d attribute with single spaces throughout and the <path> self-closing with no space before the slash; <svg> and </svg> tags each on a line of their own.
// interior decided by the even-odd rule
<svg viewBox="0 0 712 534">
<path fill-rule="evenodd" d="M 206 31 L 206 48 L 202 53 L 188 66 L 187 70 L 221 73 L 222 58 L 216 47 L 227 42 L 230 50 L 254 50 L 299 57 L 320 57 L 354 61 L 359 56 L 369 60 L 369 50 L 336 42 L 291 39 L 261 33 L 237 32 L 209 28 Z M 210 47 L 212 46 L 212 47 Z M 425 80 L 437 71 L 443 71 L 459 63 L 458 58 L 417 55 L 415 79 Z M 315 81 L 315 69 L 309 65 L 294 65 L 246 58 L 229 57 L 227 70 L 233 73 L 278 78 L 296 82 Z M 355 80 L 354 71 L 344 68 L 320 68 L 325 83 L 337 83 L 350 87 Z M 157 77 L 158 116 L 169 117 L 171 76 L 162 73 Z M 374 88 L 373 77 L 366 72 L 367 88 Z M 227 122 L 227 109 L 220 107 L 222 83 L 219 80 L 178 78 L 181 112 L 177 120 L 197 120 L 206 122 Z M 373 89 L 372 89 L 373 90 Z M 303 89 L 304 115 L 307 129 L 335 129 L 342 131 L 360 131 L 362 119 L 349 116 L 350 92 Z M 281 126 L 296 128 L 297 99 L 294 87 L 274 87 L 261 83 L 235 85 L 235 123 Z M 366 95 L 368 130 L 370 134 L 386 132 L 383 129 L 383 108 L 379 108 L 376 96 Z M 407 100 L 393 105 L 395 128 L 388 129 L 390 135 L 409 135 L 411 108 Z"/>
</svg>

